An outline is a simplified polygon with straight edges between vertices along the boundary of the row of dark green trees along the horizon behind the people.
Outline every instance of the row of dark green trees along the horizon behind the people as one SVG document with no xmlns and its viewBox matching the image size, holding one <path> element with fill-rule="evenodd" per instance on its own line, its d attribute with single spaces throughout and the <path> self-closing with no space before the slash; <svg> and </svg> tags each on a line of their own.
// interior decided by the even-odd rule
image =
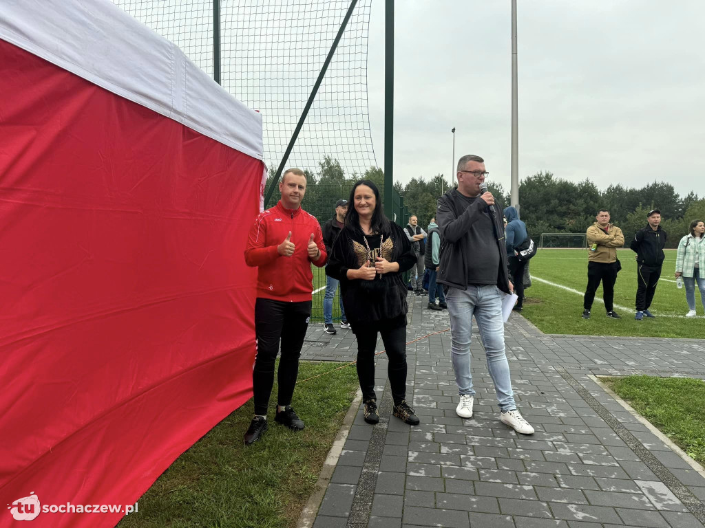
<svg viewBox="0 0 705 528">
<path fill-rule="evenodd" d="M 304 171 L 304 207 L 321 222 L 333 216 L 336 201 L 348 199 L 353 183 L 361 178 L 375 182 L 384 199 L 384 172 L 380 168 L 346 176 L 338 160 L 326 156 L 315 172 Z M 510 203 L 501 184 L 488 180 L 487 186 L 503 206 Z M 415 177 L 405 185 L 395 182 L 394 187 L 403 195 L 409 212 L 419 218 L 419 225 L 425 227 L 436 215 L 436 201 L 448 190 L 450 182 L 439 174 L 428 179 Z M 623 230 L 627 241 L 646 225 L 646 213 L 658 208 L 663 217 L 661 225 L 668 232 L 669 247 L 675 247 L 680 237 L 687 234 L 692 220 L 705 220 L 705 199 L 699 199 L 692 191 L 681 197 L 667 182 L 653 182 L 640 189 L 613 184 L 601 191 L 589 180 L 575 183 L 551 172 L 538 172 L 520 182 L 519 201 L 520 218 L 536 239 L 541 233 L 584 233 L 601 208 L 610 211 L 611 221 Z"/>
</svg>

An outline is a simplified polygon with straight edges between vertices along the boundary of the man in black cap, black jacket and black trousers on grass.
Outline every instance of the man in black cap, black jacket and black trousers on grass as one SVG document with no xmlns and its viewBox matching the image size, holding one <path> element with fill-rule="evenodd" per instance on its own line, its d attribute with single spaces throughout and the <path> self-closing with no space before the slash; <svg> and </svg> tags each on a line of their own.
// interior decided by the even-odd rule
<svg viewBox="0 0 705 528">
<path fill-rule="evenodd" d="M 649 306 L 656 293 L 656 284 L 661 277 L 661 265 L 666 255 L 663 248 L 666 246 L 666 232 L 661 229 L 661 211 L 653 209 L 646 215 L 648 224 L 634 234 L 634 239 L 629 245 L 632 251 L 637 252 L 637 321 L 653 318 Z"/>
</svg>

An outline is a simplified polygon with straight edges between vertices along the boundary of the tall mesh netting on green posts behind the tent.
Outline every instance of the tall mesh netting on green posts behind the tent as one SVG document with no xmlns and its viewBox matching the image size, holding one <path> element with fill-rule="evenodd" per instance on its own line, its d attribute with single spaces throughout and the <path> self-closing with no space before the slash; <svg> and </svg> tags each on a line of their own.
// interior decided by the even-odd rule
<svg viewBox="0 0 705 528">
<path fill-rule="evenodd" d="M 262 113 L 264 161 L 276 171 L 341 27 L 350 0 L 112 0 L 182 49 L 223 88 Z M 367 106 L 367 41 L 372 0 L 358 0 L 286 167 L 307 173 L 303 207 L 321 225 L 353 182 L 384 175 L 372 145 Z M 214 13 L 219 32 L 214 34 Z M 219 38 L 214 38 L 214 36 Z M 218 60 L 214 53 L 218 43 Z M 406 225 L 397 189 L 388 216 Z M 272 195 L 276 203 L 278 193 Z M 268 206 L 273 203 L 267 204 Z M 326 276 L 314 269 L 312 321 L 322 322 Z M 337 295 L 337 294 L 336 294 Z M 333 319 L 340 319 L 337 297 Z"/>
</svg>

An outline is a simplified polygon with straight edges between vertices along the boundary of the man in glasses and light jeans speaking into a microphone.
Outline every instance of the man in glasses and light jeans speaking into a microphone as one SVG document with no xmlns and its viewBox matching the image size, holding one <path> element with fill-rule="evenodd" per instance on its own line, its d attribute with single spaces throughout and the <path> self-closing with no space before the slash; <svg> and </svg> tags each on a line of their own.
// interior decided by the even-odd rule
<svg viewBox="0 0 705 528">
<path fill-rule="evenodd" d="M 439 198 L 436 210 L 443 240 L 438 282 L 447 287 L 450 352 L 460 394 L 455 413 L 472 417 L 475 391 L 470 338 L 474 315 L 499 401 L 500 420 L 516 432 L 532 434 L 534 428 L 517 410 L 505 355 L 502 292 L 509 294 L 513 284 L 507 270 L 502 206 L 490 192 L 480 191 L 487 174 L 482 158 L 462 156 L 458 161 L 458 187 Z"/>
</svg>

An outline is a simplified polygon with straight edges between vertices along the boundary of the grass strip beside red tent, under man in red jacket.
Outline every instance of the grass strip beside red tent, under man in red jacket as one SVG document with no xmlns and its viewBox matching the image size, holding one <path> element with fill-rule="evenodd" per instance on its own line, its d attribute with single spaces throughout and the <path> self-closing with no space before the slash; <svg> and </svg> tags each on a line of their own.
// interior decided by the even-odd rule
<svg viewBox="0 0 705 528">
<path fill-rule="evenodd" d="M 175 460 L 118 527 L 294 527 L 357 390 L 355 365 L 329 372 L 338 366 L 300 363 L 293 407 L 303 431 L 274 422 L 275 383 L 261 440 L 243 445 L 250 400 Z"/>
</svg>

